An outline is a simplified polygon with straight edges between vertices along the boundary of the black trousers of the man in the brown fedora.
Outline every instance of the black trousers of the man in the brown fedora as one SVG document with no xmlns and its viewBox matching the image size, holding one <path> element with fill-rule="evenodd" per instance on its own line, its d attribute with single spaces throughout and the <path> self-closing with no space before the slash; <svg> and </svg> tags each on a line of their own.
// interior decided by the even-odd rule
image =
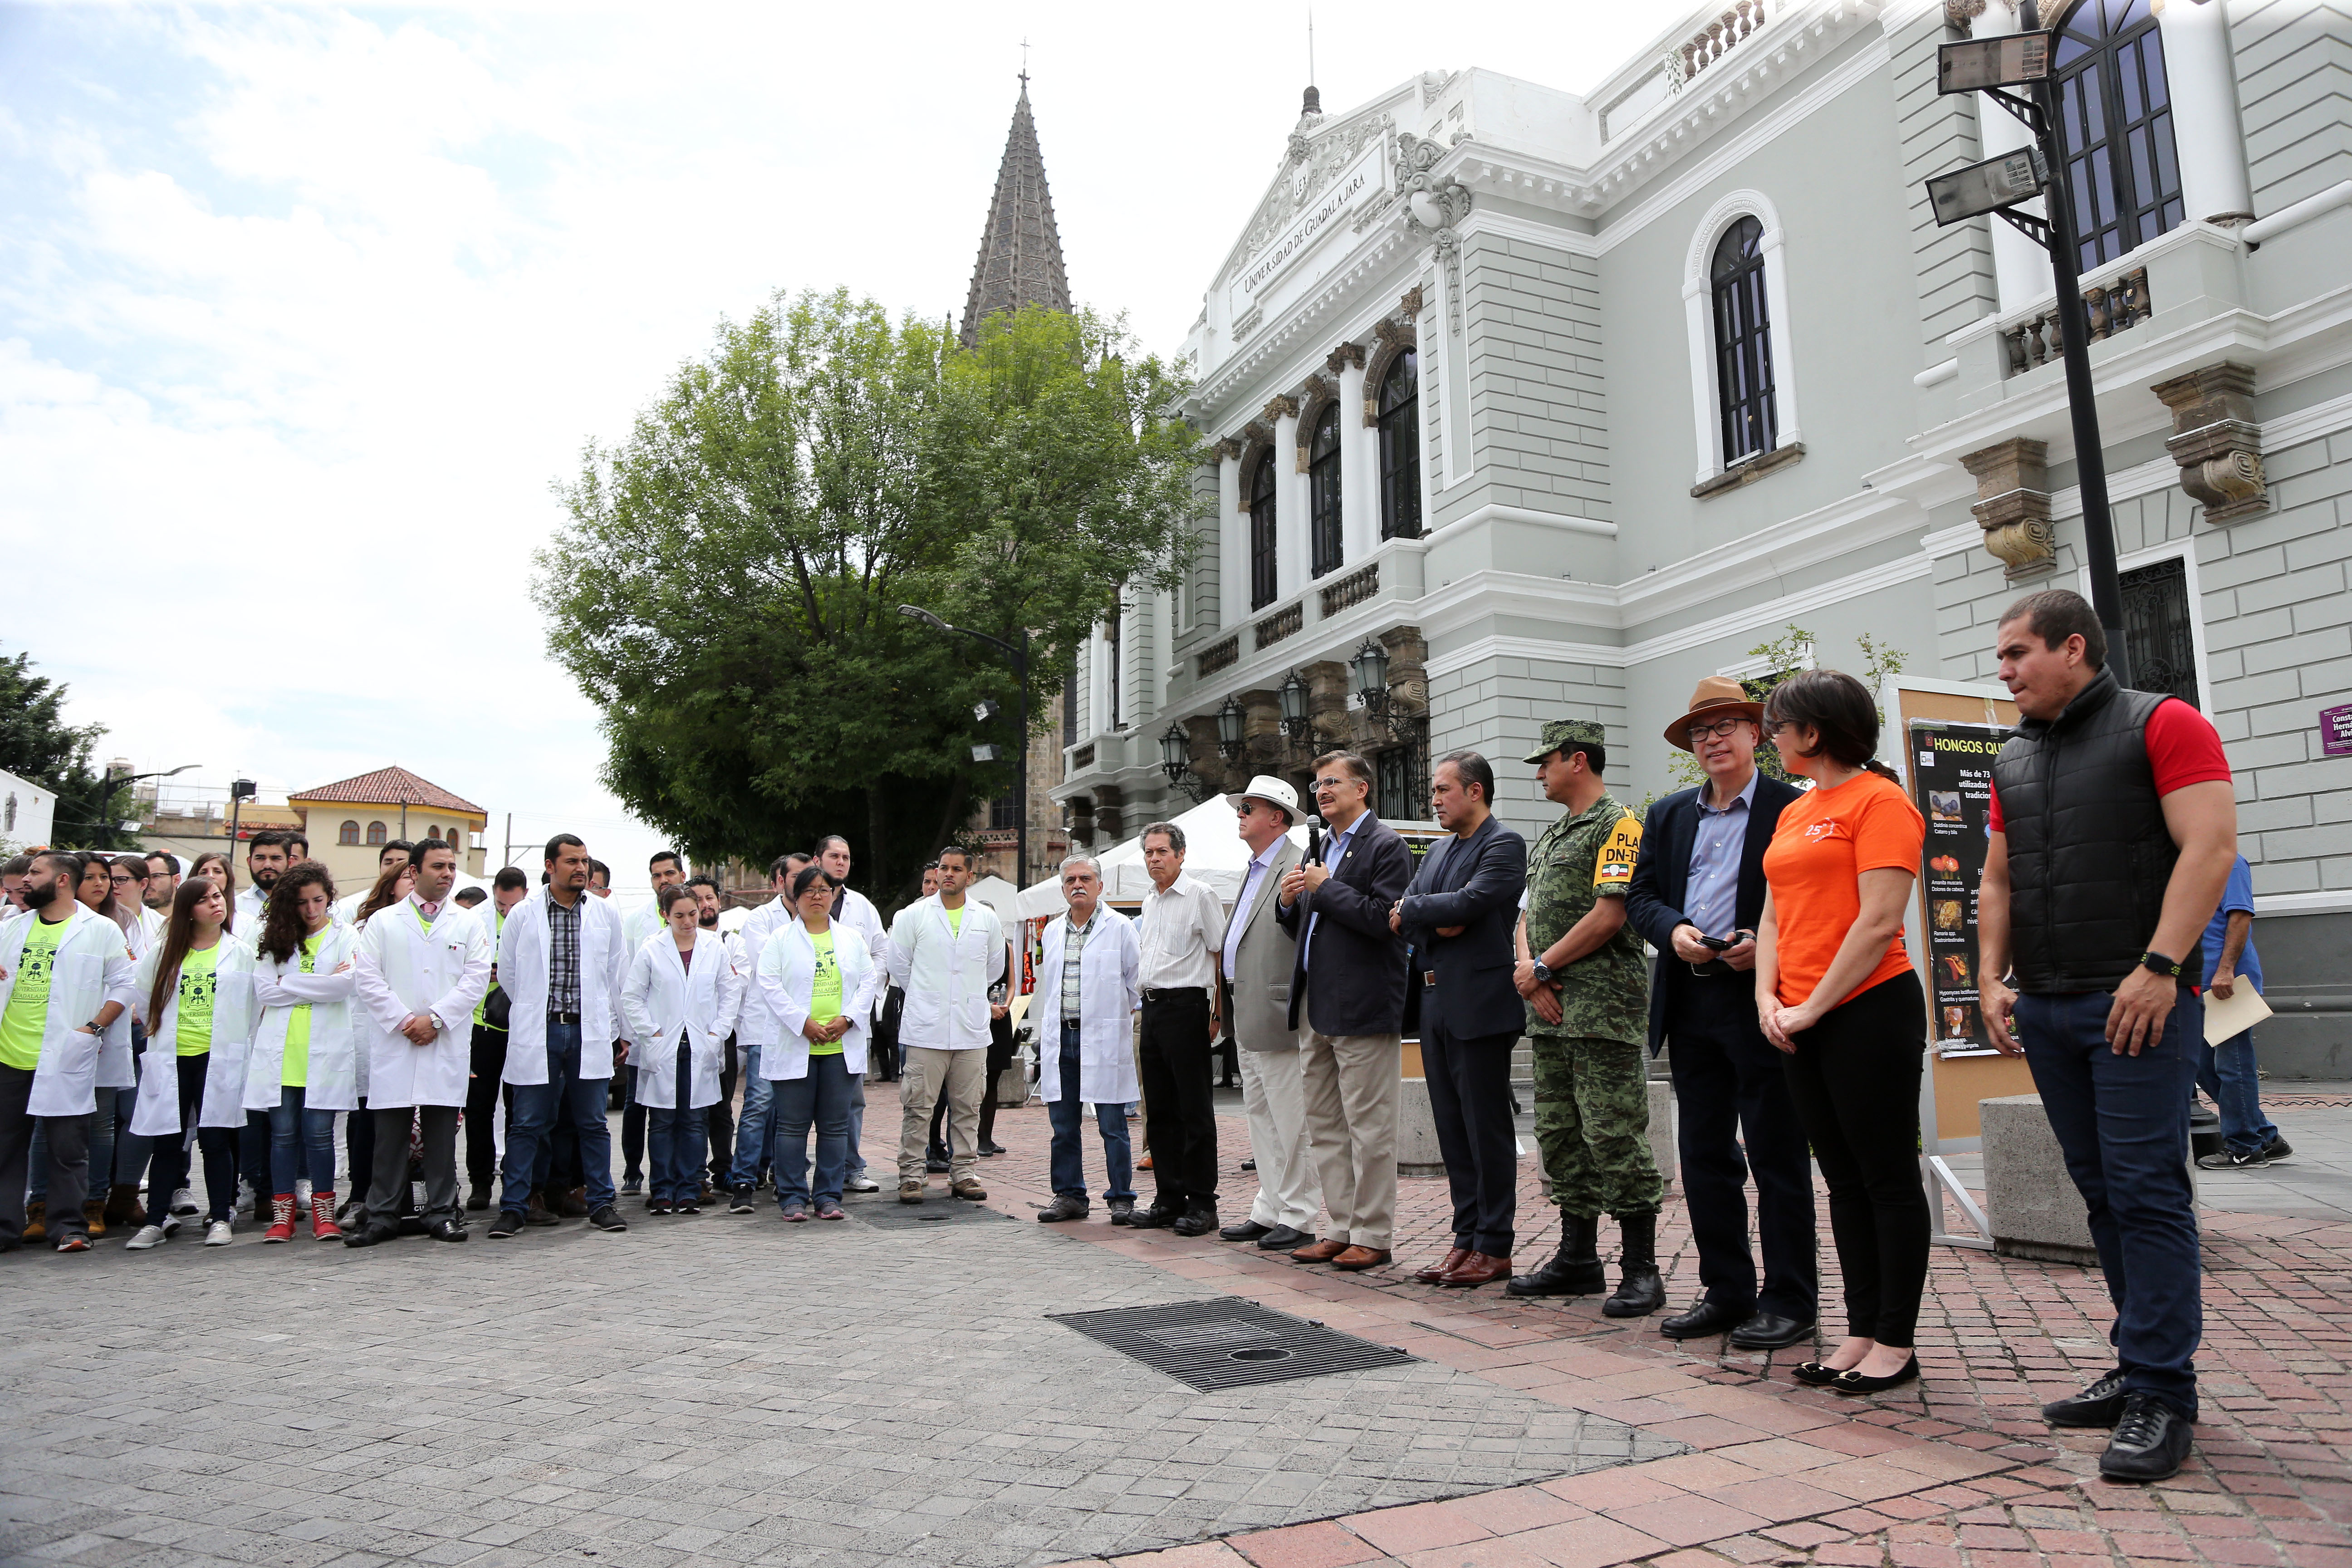
<svg viewBox="0 0 2352 1568">
<path fill-rule="evenodd" d="M 1752 973 L 1693 976 L 1670 964 L 1668 1051 L 1675 1077 L 1682 1197 L 1710 1302 L 1776 1312 L 1799 1324 L 1820 1312 L 1813 1161 L 1780 1053 L 1757 1027 Z M 1748 1178 L 1757 1182 L 1764 1288 L 1748 1253 Z"/>
</svg>

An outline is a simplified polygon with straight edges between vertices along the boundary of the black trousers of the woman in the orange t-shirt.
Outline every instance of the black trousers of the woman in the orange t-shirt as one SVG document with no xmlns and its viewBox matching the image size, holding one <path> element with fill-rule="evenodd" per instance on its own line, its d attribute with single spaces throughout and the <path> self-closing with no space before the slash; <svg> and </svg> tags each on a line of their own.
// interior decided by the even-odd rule
<svg viewBox="0 0 2352 1568">
<path fill-rule="evenodd" d="M 1912 1345 L 1926 1291 L 1929 1208 L 1919 1185 L 1919 1063 L 1926 994 L 1905 971 L 1830 1009 L 1783 1056 L 1846 1276 L 1846 1333 Z"/>
</svg>

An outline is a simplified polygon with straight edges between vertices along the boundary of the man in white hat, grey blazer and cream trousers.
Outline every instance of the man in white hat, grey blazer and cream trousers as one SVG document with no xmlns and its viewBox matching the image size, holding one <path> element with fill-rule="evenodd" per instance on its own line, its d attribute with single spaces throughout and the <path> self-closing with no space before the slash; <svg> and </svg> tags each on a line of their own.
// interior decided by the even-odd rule
<svg viewBox="0 0 2352 1568">
<path fill-rule="evenodd" d="M 1291 966 L 1298 938 L 1275 919 L 1282 877 L 1298 865 L 1291 823 L 1298 790 L 1258 773 L 1240 795 L 1228 795 L 1249 844 L 1249 870 L 1225 917 L 1218 943 L 1218 983 L 1232 1044 L 1242 1058 L 1242 1110 L 1249 1112 L 1249 1152 L 1258 1164 L 1258 1197 L 1249 1218 L 1216 1234 L 1256 1241 L 1268 1253 L 1287 1253 L 1315 1241 L 1322 1182 L 1308 1150 L 1308 1088 L 1291 1027 Z"/>
</svg>

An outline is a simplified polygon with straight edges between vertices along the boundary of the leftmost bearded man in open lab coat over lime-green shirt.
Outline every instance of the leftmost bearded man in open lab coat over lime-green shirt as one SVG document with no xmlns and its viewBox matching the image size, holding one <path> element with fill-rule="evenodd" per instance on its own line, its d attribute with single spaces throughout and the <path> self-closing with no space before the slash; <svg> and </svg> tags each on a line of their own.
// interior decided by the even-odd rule
<svg viewBox="0 0 2352 1568">
<path fill-rule="evenodd" d="M 33 856 L 28 912 L 0 924 L 0 1251 L 14 1251 L 24 1232 L 35 1128 L 54 1199 L 47 1241 L 61 1253 L 89 1251 L 82 1199 L 99 1058 L 136 994 L 122 929 L 75 898 L 80 877 L 80 856 Z"/>
</svg>

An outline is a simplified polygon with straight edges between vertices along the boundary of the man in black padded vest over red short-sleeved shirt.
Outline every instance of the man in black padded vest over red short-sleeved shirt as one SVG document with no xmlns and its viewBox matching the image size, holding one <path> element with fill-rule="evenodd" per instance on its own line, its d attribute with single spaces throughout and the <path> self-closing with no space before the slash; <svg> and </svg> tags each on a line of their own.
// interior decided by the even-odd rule
<svg viewBox="0 0 2352 1568">
<path fill-rule="evenodd" d="M 2105 670 L 2079 595 L 2011 604 L 1994 656 L 2023 722 L 1992 764 L 1978 1001 L 2032 1067 L 2114 1298 L 2114 1371 L 2042 1415 L 2114 1427 L 2100 1474 L 2161 1481 L 2197 1422 L 2197 943 L 2237 860 L 2237 795 L 2201 712 Z"/>
</svg>

